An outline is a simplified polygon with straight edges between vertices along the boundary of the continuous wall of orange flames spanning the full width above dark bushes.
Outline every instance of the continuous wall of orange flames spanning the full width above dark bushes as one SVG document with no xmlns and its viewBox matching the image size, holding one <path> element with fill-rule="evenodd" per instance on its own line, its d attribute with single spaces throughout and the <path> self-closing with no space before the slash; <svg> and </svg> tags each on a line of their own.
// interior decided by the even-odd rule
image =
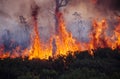
<svg viewBox="0 0 120 79">
<path fill-rule="evenodd" d="M 108 24 L 105 19 L 101 21 L 94 20 L 92 30 L 89 34 L 90 41 L 88 43 L 78 42 L 72 37 L 72 33 L 67 32 L 62 13 L 57 14 L 58 19 L 58 34 L 50 38 L 48 44 L 43 44 L 39 37 L 37 20 L 34 20 L 34 37 L 31 39 L 32 45 L 30 49 L 21 50 L 16 47 L 12 51 L 5 52 L 4 45 L 0 47 L 0 58 L 7 57 L 29 57 L 29 59 L 39 58 L 48 59 L 49 57 L 57 57 L 57 55 L 67 55 L 68 51 L 83 51 L 89 50 L 91 55 L 94 55 L 94 49 L 106 48 L 111 49 L 120 48 L 120 20 L 119 24 L 113 30 L 113 34 L 108 36 Z M 84 49 L 82 49 L 84 46 Z"/>
</svg>

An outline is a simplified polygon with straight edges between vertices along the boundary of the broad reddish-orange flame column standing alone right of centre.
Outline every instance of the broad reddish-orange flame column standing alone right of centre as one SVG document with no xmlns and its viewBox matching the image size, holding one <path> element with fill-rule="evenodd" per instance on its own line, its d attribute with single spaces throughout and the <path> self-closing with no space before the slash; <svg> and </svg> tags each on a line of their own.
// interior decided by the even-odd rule
<svg viewBox="0 0 120 79">
<path fill-rule="evenodd" d="M 106 37 L 106 30 L 108 26 L 106 23 L 106 20 L 103 19 L 102 21 L 96 21 L 93 20 L 92 24 L 92 31 L 89 34 L 90 37 L 90 42 L 87 44 L 87 48 L 90 51 L 89 53 L 91 55 L 94 54 L 92 49 L 97 49 L 97 48 L 105 48 L 108 46 L 107 44 L 107 37 Z"/>
</svg>

